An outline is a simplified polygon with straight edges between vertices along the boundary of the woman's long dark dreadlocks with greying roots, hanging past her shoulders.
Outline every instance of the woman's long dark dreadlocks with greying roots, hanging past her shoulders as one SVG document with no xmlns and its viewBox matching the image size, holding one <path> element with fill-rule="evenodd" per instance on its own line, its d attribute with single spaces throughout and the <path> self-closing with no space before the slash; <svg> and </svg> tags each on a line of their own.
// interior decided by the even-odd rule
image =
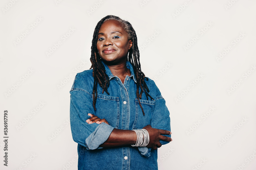
<svg viewBox="0 0 256 170">
<path fill-rule="evenodd" d="M 121 22 L 123 29 L 127 32 L 128 40 L 132 40 L 132 48 L 130 48 L 130 50 L 128 51 L 129 55 L 126 58 L 126 61 L 129 61 L 132 64 L 132 67 L 133 67 L 133 70 L 135 73 L 135 78 L 137 80 L 136 96 L 137 96 L 138 102 L 140 104 L 141 110 L 143 112 L 143 115 L 145 115 L 144 110 L 141 106 L 141 102 L 140 102 L 142 93 L 145 92 L 147 100 L 148 100 L 148 97 L 150 97 L 151 99 L 153 99 L 153 98 L 148 94 L 150 90 L 148 89 L 148 87 L 144 81 L 144 79 L 146 79 L 148 81 L 148 78 L 145 77 L 144 73 L 141 71 L 140 53 L 139 53 L 138 45 L 137 45 L 137 35 L 136 35 L 132 25 L 130 24 L 130 22 L 122 20 L 121 18 L 113 16 L 113 15 L 108 15 L 108 16 L 102 18 L 96 25 L 94 33 L 93 33 L 92 47 L 91 47 L 91 58 L 90 58 L 90 61 L 92 63 L 91 68 L 93 69 L 92 76 L 94 77 L 93 91 L 92 91 L 92 93 L 93 93 L 93 108 L 94 108 L 94 110 L 96 110 L 95 105 L 96 105 L 96 100 L 97 100 L 97 95 L 98 95 L 98 92 L 97 92 L 98 83 L 102 87 L 102 94 L 105 91 L 109 95 L 109 92 L 108 92 L 109 77 L 105 72 L 106 71 L 105 67 L 101 62 L 101 58 L 100 58 L 100 56 L 98 54 L 98 50 L 97 50 L 98 33 L 100 30 L 100 27 L 101 27 L 101 24 L 107 20 L 117 20 L 117 21 Z M 139 93 L 139 88 L 141 88 L 140 93 Z"/>
</svg>

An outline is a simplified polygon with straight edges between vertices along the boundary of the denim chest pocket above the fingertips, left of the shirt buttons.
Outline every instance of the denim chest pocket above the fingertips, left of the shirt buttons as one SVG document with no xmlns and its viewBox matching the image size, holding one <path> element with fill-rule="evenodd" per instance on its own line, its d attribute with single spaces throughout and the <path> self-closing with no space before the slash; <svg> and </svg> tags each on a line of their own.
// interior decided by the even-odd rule
<svg viewBox="0 0 256 170">
<path fill-rule="evenodd" d="M 106 119 L 110 126 L 118 128 L 119 124 L 119 98 L 112 96 L 97 96 L 95 116 Z"/>
</svg>

